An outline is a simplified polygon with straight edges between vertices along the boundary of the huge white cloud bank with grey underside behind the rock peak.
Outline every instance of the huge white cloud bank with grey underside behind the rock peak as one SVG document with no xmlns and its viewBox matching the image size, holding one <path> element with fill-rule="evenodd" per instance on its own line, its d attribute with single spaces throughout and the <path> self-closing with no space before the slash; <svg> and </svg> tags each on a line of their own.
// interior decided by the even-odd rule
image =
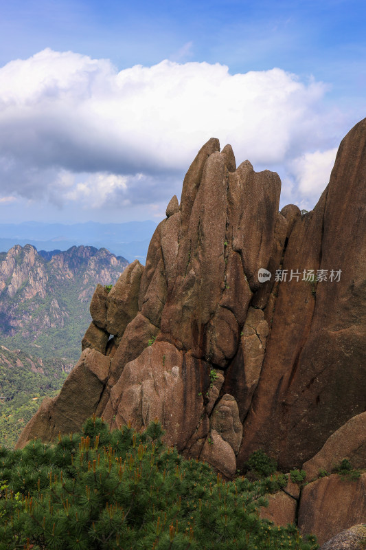
<svg viewBox="0 0 366 550">
<path fill-rule="evenodd" d="M 301 192 L 312 192 L 310 142 L 325 155 L 319 166 L 334 145 L 326 91 L 278 68 L 231 75 L 219 63 L 165 60 L 118 72 L 105 59 L 43 50 L 0 69 L 0 190 L 90 208 L 165 200 L 218 137 L 239 162 L 294 161 Z"/>
</svg>

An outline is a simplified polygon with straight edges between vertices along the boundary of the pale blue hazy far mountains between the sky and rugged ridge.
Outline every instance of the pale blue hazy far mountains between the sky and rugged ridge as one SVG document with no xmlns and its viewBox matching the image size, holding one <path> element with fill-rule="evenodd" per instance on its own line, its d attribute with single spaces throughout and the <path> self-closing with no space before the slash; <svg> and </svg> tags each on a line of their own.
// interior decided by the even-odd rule
<svg viewBox="0 0 366 550">
<path fill-rule="evenodd" d="M 155 231 L 154 221 L 128 221 L 125 223 L 0 223 L 0 252 L 14 245 L 33 245 L 39 250 L 68 250 L 71 246 L 106 248 L 128 261 L 138 259 L 145 263 L 148 245 Z"/>
</svg>

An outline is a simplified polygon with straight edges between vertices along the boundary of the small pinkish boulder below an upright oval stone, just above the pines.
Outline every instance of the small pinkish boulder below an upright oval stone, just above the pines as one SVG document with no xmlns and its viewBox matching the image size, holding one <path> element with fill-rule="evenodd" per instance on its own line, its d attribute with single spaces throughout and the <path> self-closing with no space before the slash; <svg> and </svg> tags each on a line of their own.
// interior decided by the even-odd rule
<svg viewBox="0 0 366 550">
<path fill-rule="evenodd" d="M 226 478 L 232 478 L 236 472 L 236 459 L 233 448 L 224 441 L 216 430 L 210 430 L 200 459 L 214 466 Z"/>
</svg>

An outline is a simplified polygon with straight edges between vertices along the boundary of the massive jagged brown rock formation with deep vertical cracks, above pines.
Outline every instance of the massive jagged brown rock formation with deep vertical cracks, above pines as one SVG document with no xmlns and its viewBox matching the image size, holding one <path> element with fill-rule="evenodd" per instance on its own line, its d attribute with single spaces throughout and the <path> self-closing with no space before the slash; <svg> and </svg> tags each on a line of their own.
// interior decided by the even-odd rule
<svg viewBox="0 0 366 550">
<path fill-rule="evenodd" d="M 98 401 L 93 384 L 80 384 L 70 408 L 84 393 L 111 428 L 128 420 L 143 428 L 157 416 L 167 442 L 227 477 L 258 448 L 284 471 L 301 467 L 366 408 L 365 175 L 366 119 L 341 143 L 314 210 L 279 212 L 278 175 L 256 173 L 248 160 L 236 168 L 231 146 L 220 152 L 209 140 L 180 203 L 169 202 L 146 266 L 131 264 L 108 296 L 96 289 L 83 347 L 108 359 L 108 375 L 101 382 L 90 371 L 102 384 Z M 262 268 L 271 272 L 265 283 Z M 275 281 L 276 270 L 287 280 Z M 341 278 L 306 281 L 308 270 Z M 18 448 L 36 422 L 47 423 L 37 415 Z"/>
</svg>

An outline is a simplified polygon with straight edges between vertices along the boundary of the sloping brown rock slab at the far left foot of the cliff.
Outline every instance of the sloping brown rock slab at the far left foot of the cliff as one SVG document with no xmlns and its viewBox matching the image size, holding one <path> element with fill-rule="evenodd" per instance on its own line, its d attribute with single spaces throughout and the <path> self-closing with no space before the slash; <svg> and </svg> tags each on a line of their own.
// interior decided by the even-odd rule
<svg viewBox="0 0 366 550">
<path fill-rule="evenodd" d="M 16 449 L 39 437 L 43 442 L 58 435 L 78 432 L 84 421 L 98 407 L 111 360 L 95 349 L 85 349 L 79 362 L 65 380 L 59 395 L 46 397 L 34 417 L 27 423 Z"/>
</svg>

